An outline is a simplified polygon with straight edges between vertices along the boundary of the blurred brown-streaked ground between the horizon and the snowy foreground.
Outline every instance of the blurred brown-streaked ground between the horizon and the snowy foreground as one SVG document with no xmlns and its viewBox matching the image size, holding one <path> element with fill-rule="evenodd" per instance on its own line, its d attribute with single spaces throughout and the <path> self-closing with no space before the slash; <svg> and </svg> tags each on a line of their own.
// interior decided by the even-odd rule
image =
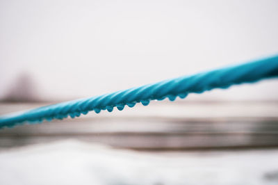
<svg viewBox="0 0 278 185">
<path fill-rule="evenodd" d="M 0 104 L 2 113 L 42 104 Z M 0 148 L 74 138 L 135 150 L 278 147 L 277 102 L 152 102 L 0 130 Z"/>
</svg>

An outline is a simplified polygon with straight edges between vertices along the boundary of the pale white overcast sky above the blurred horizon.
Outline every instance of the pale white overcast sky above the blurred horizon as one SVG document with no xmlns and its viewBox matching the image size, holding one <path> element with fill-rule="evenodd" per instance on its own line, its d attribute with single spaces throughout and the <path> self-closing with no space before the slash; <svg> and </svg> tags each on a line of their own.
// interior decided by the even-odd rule
<svg viewBox="0 0 278 185">
<path fill-rule="evenodd" d="M 0 0 L 0 98 L 90 97 L 278 54 L 278 1 Z M 278 81 L 193 99 L 276 99 Z"/>
</svg>

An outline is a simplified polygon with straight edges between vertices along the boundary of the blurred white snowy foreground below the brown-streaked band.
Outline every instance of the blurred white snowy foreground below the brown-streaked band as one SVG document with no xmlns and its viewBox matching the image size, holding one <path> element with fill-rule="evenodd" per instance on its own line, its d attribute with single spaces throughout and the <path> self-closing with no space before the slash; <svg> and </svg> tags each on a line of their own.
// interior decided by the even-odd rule
<svg viewBox="0 0 278 185">
<path fill-rule="evenodd" d="M 278 150 L 135 152 L 65 140 L 0 152 L 0 184 L 278 184 Z"/>
</svg>

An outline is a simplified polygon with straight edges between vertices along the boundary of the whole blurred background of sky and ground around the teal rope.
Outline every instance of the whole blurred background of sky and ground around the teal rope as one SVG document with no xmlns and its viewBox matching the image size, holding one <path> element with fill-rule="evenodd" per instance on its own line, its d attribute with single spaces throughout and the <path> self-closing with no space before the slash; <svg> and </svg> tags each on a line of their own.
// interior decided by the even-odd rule
<svg viewBox="0 0 278 185">
<path fill-rule="evenodd" d="M 0 114 L 278 54 L 277 7 L 0 0 Z M 0 184 L 277 184 L 277 85 L 2 129 Z"/>
</svg>

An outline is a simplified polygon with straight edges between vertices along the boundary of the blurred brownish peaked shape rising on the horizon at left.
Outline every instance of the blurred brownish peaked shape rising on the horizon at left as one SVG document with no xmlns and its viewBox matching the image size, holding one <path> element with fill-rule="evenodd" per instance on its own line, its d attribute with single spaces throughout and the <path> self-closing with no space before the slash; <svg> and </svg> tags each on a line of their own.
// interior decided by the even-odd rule
<svg viewBox="0 0 278 185">
<path fill-rule="evenodd" d="M 39 102 L 33 79 L 26 73 L 21 74 L 1 102 Z"/>
</svg>

